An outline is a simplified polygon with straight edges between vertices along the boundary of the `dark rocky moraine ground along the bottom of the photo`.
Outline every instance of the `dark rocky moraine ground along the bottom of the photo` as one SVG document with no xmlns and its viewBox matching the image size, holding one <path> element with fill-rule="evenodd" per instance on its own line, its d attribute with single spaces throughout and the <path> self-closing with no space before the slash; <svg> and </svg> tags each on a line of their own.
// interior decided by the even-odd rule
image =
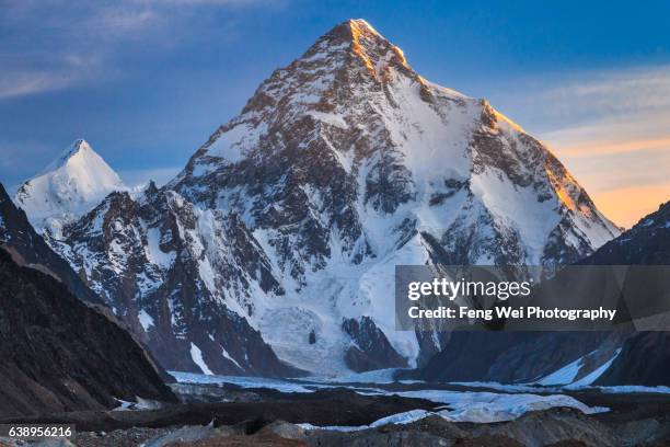
<svg viewBox="0 0 670 447">
<path fill-rule="evenodd" d="M 430 410 L 435 403 L 401 397 L 360 396 L 343 389 L 307 394 L 285 394 L 267 389 L 228 389 L 226 392 L 229 398 L 236 396 L 236 401 L 187 403 L 150 411 L 79 412 L 56 415 L 49 421 L 76 423 L 79 433 L 66 446 L 80 447 L 600 447 L 660 446 L 670 440 L 670 398 L 663 394 L 576 393 L 589 404 L 611 409 L 597 415 L 553 408 L 499 423 L 449 422 L 429 415 L 414 422 L 366 427 L 398 411 Z M 319 428 L 337 425 L 348 425 L 349 431 Z"/>
</svg>

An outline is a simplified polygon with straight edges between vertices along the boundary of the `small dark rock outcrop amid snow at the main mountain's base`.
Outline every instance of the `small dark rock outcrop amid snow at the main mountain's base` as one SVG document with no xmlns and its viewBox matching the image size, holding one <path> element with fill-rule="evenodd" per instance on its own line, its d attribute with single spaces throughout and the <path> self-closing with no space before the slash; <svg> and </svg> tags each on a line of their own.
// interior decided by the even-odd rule
<svg viewBox="0 0 670 447">
<path fill-rule="evenodd" d="M 351 346 L 345 354 L 349 369 L 360 373 L 407 366 L 407 360 L 393 348 L 386 335 L 371 318 L 346 320 L 342 323 L 342 329 L 351 337 Z"/>
</svg>

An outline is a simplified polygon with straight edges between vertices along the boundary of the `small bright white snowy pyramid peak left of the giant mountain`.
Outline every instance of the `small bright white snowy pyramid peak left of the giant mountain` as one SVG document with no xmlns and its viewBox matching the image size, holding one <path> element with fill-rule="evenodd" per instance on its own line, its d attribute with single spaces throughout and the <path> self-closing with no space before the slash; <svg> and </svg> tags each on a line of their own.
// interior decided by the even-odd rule
<svg viewBox="0 0 670 447">
<path fill-rule="evenodd" d="M 118 174 L 84 139 L 77 139 L 19 187 L 14 203 L 25 210 L 33 226 L 43 229 L 55 224 L 54 219 L 62 222 L 81 216 L 119 190 L 125 186 Z"/>
</svg>

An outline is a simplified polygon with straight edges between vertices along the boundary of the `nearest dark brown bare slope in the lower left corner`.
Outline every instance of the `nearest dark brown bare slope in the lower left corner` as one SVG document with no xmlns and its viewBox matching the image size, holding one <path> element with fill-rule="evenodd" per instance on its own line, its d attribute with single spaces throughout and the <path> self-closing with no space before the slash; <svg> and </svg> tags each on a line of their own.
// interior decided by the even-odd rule
<svg viewBox="0 0 670 447">
<path fill-rule="evenodd" d="M 103 410 L 136 397 L 173 401 L 130 334 L 0 250 L 0 416 Z"/>
</svg>

